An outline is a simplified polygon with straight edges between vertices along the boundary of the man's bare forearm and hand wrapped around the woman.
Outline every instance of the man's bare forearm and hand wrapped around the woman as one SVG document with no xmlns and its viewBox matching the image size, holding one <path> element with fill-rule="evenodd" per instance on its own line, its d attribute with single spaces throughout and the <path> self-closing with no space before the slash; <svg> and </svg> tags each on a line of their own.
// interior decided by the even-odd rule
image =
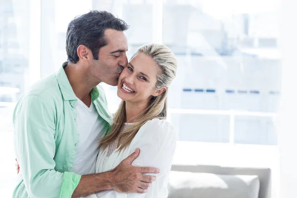
<svg viewBox="0 0 297 198">
<path fill-rule="evenodd" d="M 138 157 L 140 150 L 136 149 L 116 168 L 104 173 L 83 175 L 75 189 L 72 198 L 95 194 L 103 190 L 116 190 L 120 193 L 146 193 L 155 176 L 144 173 L 159 173 L 157 168 L 132 166 L 132 161 Z"/>
</svg>

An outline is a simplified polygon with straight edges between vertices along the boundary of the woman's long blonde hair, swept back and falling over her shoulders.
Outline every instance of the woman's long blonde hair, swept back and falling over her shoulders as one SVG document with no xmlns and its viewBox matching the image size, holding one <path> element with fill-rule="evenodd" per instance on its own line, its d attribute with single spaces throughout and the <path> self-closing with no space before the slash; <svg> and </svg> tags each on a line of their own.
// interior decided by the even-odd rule
<svg viewBox="0 0 297 198">
<path fill-rule="evenodd" d="M 137 116 L 131 127 L 120 133 L 126 121 L 125 101 L 123 100 L 114 115 L 109 134 L 100 139 L 100 148 L 102 149 L 107 148 L 109 144 L 118 138 L 118 140 L 121 141 L 118 141 L 117 147 L 118 150 L 121 151 L 130 145 L 139 129 L 148 122 L 148 120 L 152 120 L 153 118 L 166 118 L 168 88 L 175 78 L 177 70 L 175 55 L 169 48 L 161 44 L 144 45 L 137 49 L 136 54 L 140 52 L 152 57 L 156 65 L 160 68 L 161 72 L 157 76 L 155 89 L 160 90 L 162 87 L 166 87 L 166 90 L 159 96 L 152 97 L 148 103 L 148 107 Z"/>
</svg>

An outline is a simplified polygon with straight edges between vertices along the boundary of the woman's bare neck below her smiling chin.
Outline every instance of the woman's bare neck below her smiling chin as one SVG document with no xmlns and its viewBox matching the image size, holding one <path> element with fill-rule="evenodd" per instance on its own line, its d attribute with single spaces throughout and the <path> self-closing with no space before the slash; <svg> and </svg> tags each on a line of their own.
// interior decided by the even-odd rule
<svg viewBox="0 0 297 198">
<path fill-rule="evenodd" d="M 138 116 L 148 107 L 148 102 L 129 103 L 126 101 L 125 103 L 127 123 L 135 122 Z"/>
</svg>

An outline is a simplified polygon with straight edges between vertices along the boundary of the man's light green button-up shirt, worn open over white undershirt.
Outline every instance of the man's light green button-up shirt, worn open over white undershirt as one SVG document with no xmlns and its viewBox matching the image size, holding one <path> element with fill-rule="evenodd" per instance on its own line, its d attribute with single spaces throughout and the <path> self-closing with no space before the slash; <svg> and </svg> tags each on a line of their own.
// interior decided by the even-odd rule
<svg viewBox="0 0 297 198">
<path fill-rule="evenodd" d="M 12 198 L 71 198 L 81 175 L 71 172 L 79 144 L 76 96 L 64 67 L 33 85 L 13 113 L 20 182 Z M 99 116 L 112 124 L 103 88 L 91 91 Z M 98 132 L 100 133 L 100 132 Z"/>
</svg>

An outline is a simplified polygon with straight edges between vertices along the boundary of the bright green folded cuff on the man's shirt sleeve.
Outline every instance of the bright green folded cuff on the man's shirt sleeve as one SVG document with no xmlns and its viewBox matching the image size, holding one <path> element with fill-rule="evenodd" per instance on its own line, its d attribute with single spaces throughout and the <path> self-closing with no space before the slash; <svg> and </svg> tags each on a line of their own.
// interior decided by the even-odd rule
<svg viewBox="0 0 297 198">
<path fill-rule="evenodd" d="M 71 198 L 81 177 L 81 175 L 77 175 L 73 172 L 64 172 L 64 179 L 61 187 L 60 198 Z"/>
</svg>

